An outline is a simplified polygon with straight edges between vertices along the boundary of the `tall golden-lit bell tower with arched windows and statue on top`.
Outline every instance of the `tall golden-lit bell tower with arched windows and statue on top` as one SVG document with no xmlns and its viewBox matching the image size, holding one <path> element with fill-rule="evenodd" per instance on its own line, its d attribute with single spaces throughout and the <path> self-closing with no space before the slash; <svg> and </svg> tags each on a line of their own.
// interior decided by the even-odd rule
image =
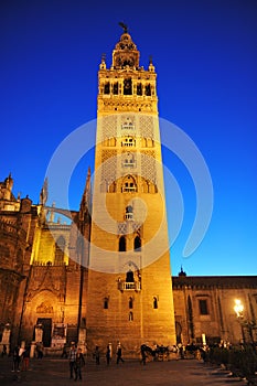
<svg viewBox="0 0 257 386">
<path fill-rule="evenodd" d="M 120 23 L 121 24 L 121 23 Z M 87 345 L 175 343 L 157 73 L 125 24 L 98 72 Z"/>
</svg>

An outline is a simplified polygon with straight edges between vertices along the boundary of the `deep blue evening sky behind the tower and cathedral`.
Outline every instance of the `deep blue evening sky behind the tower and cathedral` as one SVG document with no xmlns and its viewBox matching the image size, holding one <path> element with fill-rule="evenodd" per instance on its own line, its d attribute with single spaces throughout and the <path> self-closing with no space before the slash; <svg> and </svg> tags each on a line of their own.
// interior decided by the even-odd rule
<svg viewBox="0 0 257 386">
<path fill-rule="evenodd" d="M 122 32 L 118 22 L 124 21 L 141 53 L 140 64 L 147 67 L 153 57 L 160 117 L 191 137 L 213 180 L 210 228 L 185 259 L 194 187 L 181 162 L 164 154 L 185 205 L 171 249 L 173 274 L 182 265 L 194 276 L 256 275 L 256 20 L 257 3 L 249 0 L 2 0 L 0 179 L 11 172 L 14 194 L 39 202 L 56 147 L 96 118 L 100 56 L 106 53 L 109 66 Z M 73 208 L 78 208 L 86 169 L 74 174 Z"/>
</svg>

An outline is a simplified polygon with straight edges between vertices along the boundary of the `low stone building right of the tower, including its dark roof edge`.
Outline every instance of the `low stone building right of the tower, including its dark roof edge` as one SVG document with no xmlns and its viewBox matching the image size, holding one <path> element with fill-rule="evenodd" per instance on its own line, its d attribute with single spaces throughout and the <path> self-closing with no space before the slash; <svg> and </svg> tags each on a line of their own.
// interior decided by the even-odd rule
<svg viewBox="0 0 257 386">
<path fill-rule="evenodd" d="M 178 342 L 257 342 L 257 277 L 173 277 Z M 235 300 L 244 304 L 236 317 Z"/>
</svg>

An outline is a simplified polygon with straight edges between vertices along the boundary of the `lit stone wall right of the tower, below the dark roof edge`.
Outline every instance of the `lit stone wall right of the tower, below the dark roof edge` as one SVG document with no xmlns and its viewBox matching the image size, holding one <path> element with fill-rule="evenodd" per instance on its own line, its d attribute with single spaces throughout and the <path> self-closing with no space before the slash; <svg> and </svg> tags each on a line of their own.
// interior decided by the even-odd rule
<svg viewBox="0 0 257 386">
<path fill-rule="evenodd" d="M 202 343 L 202 334 L 210 343 L 221 340 L 239 343 L 240 322 L 257 321 L 257 289 L 237 286 L 236 280 L 228 288 L 218 283 L 208 286 L 208 278 L 203 279 L 205 286 L 173 286 L 176 335 L 179 330 L 184 344 Z M 238 320 L 235 313 L 235 299 L 244 304 L 244 319 Z M 245 334 L 250 340 L 247 331 Z"/>
</svg>

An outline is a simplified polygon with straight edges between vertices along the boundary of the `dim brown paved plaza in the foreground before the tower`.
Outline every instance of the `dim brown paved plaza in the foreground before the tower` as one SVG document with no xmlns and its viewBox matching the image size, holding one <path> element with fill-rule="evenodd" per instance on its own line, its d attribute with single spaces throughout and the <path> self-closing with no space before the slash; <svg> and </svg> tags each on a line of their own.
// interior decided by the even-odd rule
<svg viewBox="0 0 257 386">
<path fill-rule="evenodd" d="M 24 384 L 29 386 L 66 386 L 84 384 L 87 386 L 229 386 L 246 385 L 245 380 L 231 377 L 228 372 L 210 366 L 196 360 L 149 362 L 146 366 L 138 361 L 124 364 L 104 362 L 99 366 L 87 361 L 83 379 L 69 379 L 68 362 L 62 358 L 44 357 L 30 361 L 28 372 L 12 373 L 12 358 L 0 358 L 0 385 Z"/>
</svg>

